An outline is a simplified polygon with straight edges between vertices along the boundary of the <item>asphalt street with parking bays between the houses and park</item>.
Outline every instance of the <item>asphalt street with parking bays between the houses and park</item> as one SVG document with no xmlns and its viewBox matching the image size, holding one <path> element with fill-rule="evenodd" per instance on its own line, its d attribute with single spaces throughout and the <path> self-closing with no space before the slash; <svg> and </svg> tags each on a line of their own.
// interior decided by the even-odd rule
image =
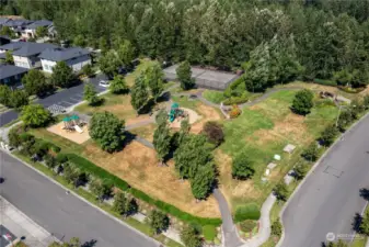
<svg viewBox="0 0 369 247">
<path fill-rule="evenodd" d="M 97 75 L 96 77 L 90 79 L 91 83 L 95 86 L 97 92 L 102 92 L 106 89 L 99 86 L 99 81 L 101 79 L 106 79 L 106 76 Z M 47 98 L 39 99 L 36 101 L 36 103 L 43 104 L 45 108 L 48 108 L 53 104 L 59 104 L 64 108 L 68 108 L 72 104 L 82 101 L 83 87 L 84 85 L 80 83 L 78 86 L 65 89 L 60 92 L 56 92 Z M 0 127 L 12 122 L 13 120 L 16 120 L 18 115 L 19 113 L 15 110 L 10 110 L 8 112 L 2 113 L 0 115 Z"/>
</svg>

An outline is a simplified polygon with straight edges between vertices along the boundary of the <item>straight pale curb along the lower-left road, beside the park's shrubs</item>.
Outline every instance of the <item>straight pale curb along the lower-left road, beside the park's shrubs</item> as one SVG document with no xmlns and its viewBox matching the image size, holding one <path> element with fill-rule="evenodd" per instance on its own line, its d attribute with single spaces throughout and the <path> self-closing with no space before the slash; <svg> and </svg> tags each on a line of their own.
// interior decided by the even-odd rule
<svg viewBox="0 0 369 247">
<path fill-rule="evenodd" d="M 19 160 L 20 162 L 22 162 L 23 165 L 30 167 L 32 170 L 36 171 L 37 173 L 39 173 L 41 176 L 43 176 L 44 178 L 46 178 L 47 180 L 49 180 L 50 182 L 53 182 L 54 184 L 59 186 L 60 188 L 62 188 L 66 191 L 70 191 L 68 188 L 66 188 L 64 184 L 57 182 L 56 180 L 54 180 L 53 178 L 44 175 L 42 171 L 37 170 L 36 168 L 34 168 L 33 166 L 31 166 L 30 164 L 25 162 L 24 160 L 20 159 L 19 157 L 14 156 L 12 153 L 10 151 L 4 151 L 7 154 L 9 154 L 11 157 L 13 157 L 14 159 Z M 106 215 L 107 217 L 109 217 L 111 220 L 114 220 L 115 222 L 119 223 L 120 225 L 134 231 L 135 233 L 137 233 L 138 235 L 145 237 L 146 239 L 157 244 L 157 246 L 162 245 L 161 243 L 159 243 L 158 240 L 145 235 L 143 233 L 141 233 L 140 231 L 136 229 L 135 227 L 128 225 L 127 223 L 120 221 L 119 218 L 111 215 L 109 213 L 105 212 L 104 210 L 100 209 L 99 206 L 96 206 L 95 204 L 91 203 L 90 201 L 85 200 L 84 198 L 82 198 L 81 195 L 79 195 L 78 193 L 76 193 L 74 191 L 70 191 L 71 194 L 73 194 L 76 198 L 80 199 L 81 201 L 85 202 L 87 204 L 89 204 L 90 206 L 96 209 L 97 211 L 100 211 L 101 213 L 103 213 L 104 215 Z"/>
</svg>

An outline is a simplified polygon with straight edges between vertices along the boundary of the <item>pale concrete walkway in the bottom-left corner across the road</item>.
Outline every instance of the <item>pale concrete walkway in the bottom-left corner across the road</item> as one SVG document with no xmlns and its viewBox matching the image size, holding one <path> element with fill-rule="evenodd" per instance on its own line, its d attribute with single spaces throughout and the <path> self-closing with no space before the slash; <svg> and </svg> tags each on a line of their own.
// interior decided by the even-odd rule
<svg viewBox="0 0 369 247">
<path fill-rule="evenodd" d="M 24 243 L 32 247 L 46 247 L 58 242 L 46 229 L 37 225 L 14 205 L 0 197 L 0 223 L 12 232 L 18 238 L 24 237 Z"/>
</svg>

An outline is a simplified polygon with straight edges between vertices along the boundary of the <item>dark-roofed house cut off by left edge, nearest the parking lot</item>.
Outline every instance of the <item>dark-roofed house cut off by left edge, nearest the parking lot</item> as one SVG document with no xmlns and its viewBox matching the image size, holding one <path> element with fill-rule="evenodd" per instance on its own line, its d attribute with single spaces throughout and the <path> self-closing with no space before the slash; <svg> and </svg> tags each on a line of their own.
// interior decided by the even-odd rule
<svg viewBox="0 0 369 247">
<path fill-rule="evenodd" d="M 0 83 L 16 88 L 22 83 L 23 76 L 28 69 L 13 65 L 0 65 Z"/>
</svg>

